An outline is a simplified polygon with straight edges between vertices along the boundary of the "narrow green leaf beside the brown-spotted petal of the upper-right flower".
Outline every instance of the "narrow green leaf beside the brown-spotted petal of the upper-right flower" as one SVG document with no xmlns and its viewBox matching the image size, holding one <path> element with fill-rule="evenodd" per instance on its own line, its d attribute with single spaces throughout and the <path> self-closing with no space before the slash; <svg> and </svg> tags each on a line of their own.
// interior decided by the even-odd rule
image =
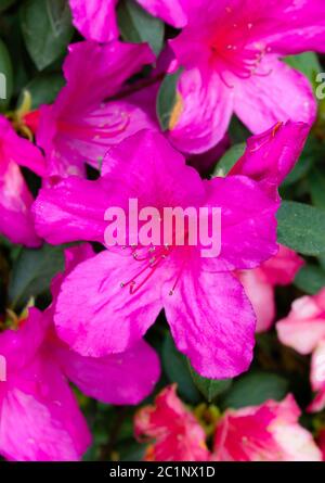
<svg viewBox="0 0 325 483">
<path fill-rule="evenodd" d="M 157 96 L 157 116 L 162 131 L 169 129 L 170 117 L 178 102 L 177 86 L 182 71 L 167 75 L 160 85 Z"/>
</svg>

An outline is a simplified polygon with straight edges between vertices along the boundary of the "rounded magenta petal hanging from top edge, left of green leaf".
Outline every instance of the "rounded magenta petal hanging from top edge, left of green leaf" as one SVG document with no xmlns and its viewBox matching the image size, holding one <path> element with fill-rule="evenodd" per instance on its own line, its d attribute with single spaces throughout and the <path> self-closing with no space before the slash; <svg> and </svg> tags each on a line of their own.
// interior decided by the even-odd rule
<svg viewBox="0 0 325 483">
<path fill-rule="evenodd" d="M 108 42 L 118 37 L 118 0 L 69 0 L 74 25 L 87 39 Z"/>
</svg>

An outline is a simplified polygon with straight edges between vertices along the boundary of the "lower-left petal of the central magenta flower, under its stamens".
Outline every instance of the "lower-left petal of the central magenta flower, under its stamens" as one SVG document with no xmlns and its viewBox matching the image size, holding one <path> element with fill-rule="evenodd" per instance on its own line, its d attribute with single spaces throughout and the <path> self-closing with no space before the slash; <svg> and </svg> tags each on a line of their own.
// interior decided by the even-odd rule
<svg viewBox="0 0 325 483">
<path fill-rule="evenodd" d="M 108 251 L 80 264 L 57 298 L 54 321 L 60 338 L 91 357 L 123 352 L 139 341 L 161 309 L 159 270 L 136 294 L 121 288 L 141 269 L 132 257 Z"/>
</svg>

